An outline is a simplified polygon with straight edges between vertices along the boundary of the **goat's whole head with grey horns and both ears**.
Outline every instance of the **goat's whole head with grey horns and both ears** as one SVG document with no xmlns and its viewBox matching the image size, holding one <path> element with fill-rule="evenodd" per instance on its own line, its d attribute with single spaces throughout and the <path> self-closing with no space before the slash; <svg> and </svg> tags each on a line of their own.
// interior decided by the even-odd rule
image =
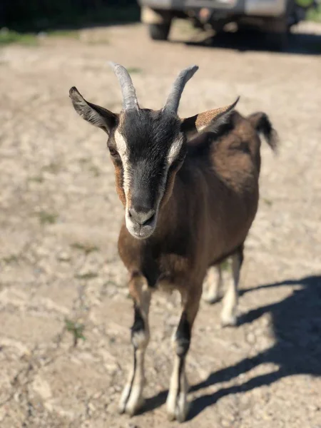
<svg viewBox="0 0 321 428">
<path fill-rule="evenodd" d="M 158 212 L 173 190 L 190 138 L 215 132 L 235 103 L 180 119 L 178 104 L 183 88 L 198 66 L 181 71 L 165 107 L 158 111 L 140 108 L 126 68 L 111 63 L 121 85 L 123 110 L 116 114 L 86 101 L 75 87 L 69 91 L 73 107 L 89 123 L 108 134 L 107 146 L 116 170 L 116 190 L 126 209 L 126 227 L 135 238 L 151 236 Z"/>
</svg>

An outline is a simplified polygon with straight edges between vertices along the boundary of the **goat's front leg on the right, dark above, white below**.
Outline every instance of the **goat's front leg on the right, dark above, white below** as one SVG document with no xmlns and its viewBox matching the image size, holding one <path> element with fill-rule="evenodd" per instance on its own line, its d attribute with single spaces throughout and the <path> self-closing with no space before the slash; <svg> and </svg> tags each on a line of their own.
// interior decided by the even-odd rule
<svg viewBox="0 0 321 428">
<path fill-rule="evenodd" d="M 170 388 L 166 400 L 168 418 L 184 422 L 188 414 L 188 382 L 185 374 L 185 359 L 190 347 L 190 337 L 198 313 L 202 285 L 195 292 L 189 293 L 183 302 L 183 310 L 180 322 L 173 335 L 173 346 L 175 350 L 174 367 L 170 378 Z"/>
</svg>

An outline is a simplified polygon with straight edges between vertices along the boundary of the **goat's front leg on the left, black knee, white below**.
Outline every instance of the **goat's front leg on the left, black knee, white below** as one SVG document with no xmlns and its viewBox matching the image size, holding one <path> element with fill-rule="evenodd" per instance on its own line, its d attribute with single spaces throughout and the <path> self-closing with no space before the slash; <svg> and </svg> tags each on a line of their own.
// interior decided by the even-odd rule
<svg viewBox="0 0 321 428">
<path fill-rule="evenodd" d="M 121 394 L 119 411 L 136 414 L 143 405 L 143 386 L 145 383 L 144 357 L 149 341 L 148 310 L 151 302 L 151 290 L 145 277 L 136 275 L 129 282 L 129 292 L 134 302 L 134 322 L 131 327 L 133 344 L 133 362 L 128 382 Z"/>
</svg>

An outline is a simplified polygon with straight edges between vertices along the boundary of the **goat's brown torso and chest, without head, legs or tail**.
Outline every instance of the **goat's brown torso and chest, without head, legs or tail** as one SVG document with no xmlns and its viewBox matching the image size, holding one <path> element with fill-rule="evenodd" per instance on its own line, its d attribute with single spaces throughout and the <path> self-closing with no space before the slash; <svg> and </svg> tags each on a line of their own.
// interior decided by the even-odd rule
<svg viewBox="0 0 321 428">
<path fill-rule="evenodd" d="M 208 267 L 243 245 L 258 208 L 260 138 L 233 114 L 214 143 L 188 153 L 155 233 L 137 241 L 125 224 L 118 242 L 128 271 L 180 290 L 201 286 Z M 175 225 L 175 228 L 173 228 Z"/>
</svg>

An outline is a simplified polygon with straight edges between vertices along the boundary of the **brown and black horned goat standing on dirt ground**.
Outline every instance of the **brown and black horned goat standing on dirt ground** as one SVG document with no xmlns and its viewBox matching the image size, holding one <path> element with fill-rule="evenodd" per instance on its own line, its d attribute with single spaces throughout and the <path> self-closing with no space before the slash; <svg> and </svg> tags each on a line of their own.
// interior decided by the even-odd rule
<svg viewBox="0 0 321 428">
<path fill-rule="evenodd" d="M 121 113 L 86 101 L 73 87 L 73 107 L 103 129 L 125 208 L 118 252 L 129 274 L 134 322 L 133 367 L 119 409 L 135 414 L 143 404 L 148 309 L 158 285 L 178 290 L 182 309 L 173 335 L 175 359 L 166 401 L 171 420 L 188 414 L 185 359 L 209 267 L 232 258 L 233 282 L 223 300 L 223 325 L 235 325 L 243 245 L 258 209 L 260 138 L 276 147 L 265 113 L 243 118 L 234 108 L 180 119 L 183 88 L 198 66 L 181 71 L 165 106 L 140 108 L 126 68 L 111 63 L 123 95 Z M 215 294 L 215 287 L 212 294 Z M 213 296 L 212 296 L 213 297 Z"/>
</svg>

